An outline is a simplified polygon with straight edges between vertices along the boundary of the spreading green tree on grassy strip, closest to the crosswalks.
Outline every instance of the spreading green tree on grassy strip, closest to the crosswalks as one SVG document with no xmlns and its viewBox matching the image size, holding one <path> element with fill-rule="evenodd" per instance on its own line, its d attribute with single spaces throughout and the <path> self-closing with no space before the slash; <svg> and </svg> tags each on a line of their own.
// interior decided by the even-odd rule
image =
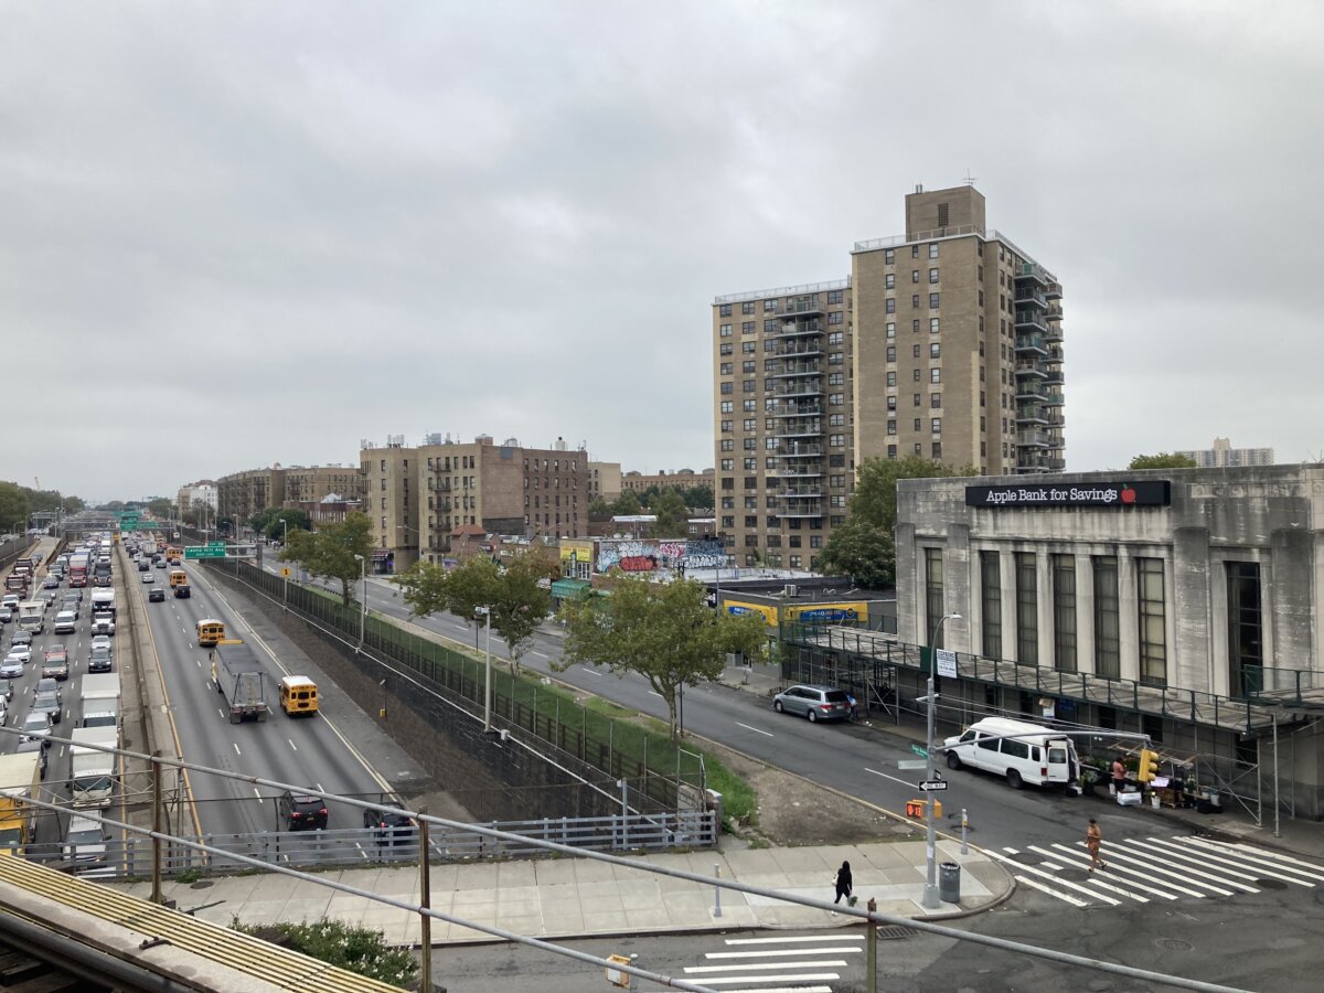
<svg viewBox="0 0 1324 993">
<path fill-rule="evenodd" d="M 579 597 L 561 606 L 565 647 L 552 666 L 606 666 L 638 673 L 667 706 L 671 740 L 679 740 L 677 691 L 716 679 L 726 657 L 764 653 L 764 621 L 757 614 L 720 614 L 706 602 L 702 583 L 681 580 L 654 585 L 622 580 L 609 597 Z"/>
</svg>

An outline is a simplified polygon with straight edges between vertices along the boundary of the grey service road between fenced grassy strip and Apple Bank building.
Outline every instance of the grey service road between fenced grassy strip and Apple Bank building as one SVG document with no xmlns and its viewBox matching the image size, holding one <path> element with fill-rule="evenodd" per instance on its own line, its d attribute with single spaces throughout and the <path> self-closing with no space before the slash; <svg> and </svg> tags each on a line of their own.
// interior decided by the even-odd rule
<svg viewBox="0 0 1324 993">
<path fill-rule="evenodd" d="M 273 572 L 279 572 L 282 565 L 283 563 L 270 557 L 263 561 L 263 568 Z M 323 585 L 339 591 L 339 584 Z M 483 630 L 450 614 L 410 618 L 402 594 L 387 579 L 368 579 L 368 606 L 376 613 L 410 620 L 426 630 L 469 646 L 477 641 L 482 649 L 486 638 Z M 494 658 L 507 655 L 506 645 L 495 633 L 491 637 L 491 651 Z M 532 647 L 523 655 L 520 665 L 622 707 L 666 719 L 666 704 L 642 677 L 614 677 L 605 670 L 581 665 L 556 673 L 551 663 L 560 655 L 561 638 L 543 630 L 534 636 Z M 495 669 L 494 686 L 499 686 L 507 673 L 506 665 Z M 718 683 L 703 683 L 685 691 L 683 723 L 687 732 L 899 812 L 904 809 L 907 800 L 922 796 L 915 784 L 923 776 L 898 768 L 898 761 L 915 759 L 911 740 L 887 733 L 882 720 L 875 720 L 875 728 L 810 724 L 776 714 L 771 700 L 764 702 L 752 694 Z M 939 737 L 947 733 L 955 731 L 940 731 Z M 944 808 L 941 830 L 959 833 L 960 812 L 965 808 L 970 841 L 985 846 L 1053 845 L 1076 841 L 1084 833 L 1086 818 L 1090 817 L 1087 808 L 1082 806 L 1079 798 L 1066 797 L 1061 790 L 1039 790 L 1033 786 L 1013 790 L 1000 779 L 968 769 L 948 772 L 944 768 L 941 772 L 949 784 L 940 796 Z M 1119 808 L 1116 814 L 1119 822 L 1110 825 L 1112 837 L 1125 838 L 1149 828 L 1143 812 Z"/>
</svg>

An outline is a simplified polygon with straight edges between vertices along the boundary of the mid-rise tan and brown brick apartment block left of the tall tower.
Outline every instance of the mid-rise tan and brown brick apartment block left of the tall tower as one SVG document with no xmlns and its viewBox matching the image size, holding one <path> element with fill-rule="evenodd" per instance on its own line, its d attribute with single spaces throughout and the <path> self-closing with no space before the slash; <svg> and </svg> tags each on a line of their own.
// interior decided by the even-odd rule
<svg viewBox="0 0 1324 993">
<path fill-rule="evenodd" d="M 466 526 L 573 538 L 588 524 L 583 449 L 527 449 L 514 438 L 495 445 L 486 434 L 405 448 L 395 436 L 384 448 L 364 442 L 360 463 L 375 572 L 401 572 L 420 557 L 440 561 Z"/>
</svg>

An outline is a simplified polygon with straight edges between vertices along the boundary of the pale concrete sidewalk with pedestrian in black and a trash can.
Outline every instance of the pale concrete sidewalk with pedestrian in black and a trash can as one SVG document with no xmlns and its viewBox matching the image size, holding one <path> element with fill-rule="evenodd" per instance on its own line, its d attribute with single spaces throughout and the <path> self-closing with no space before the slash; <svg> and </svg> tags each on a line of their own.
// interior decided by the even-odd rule
<svg viewBox="0 0 1324 993">
<path fill-rule="evenodd" d="M 936 920 L 986 910 L 1006 899 L 1014 888 L 1010 875 L 998 863 L 976 849 L 963 855 L 960 847 L 959 842 L 939 841 L 939 863 L 955 862 L 961 867 L 960 903 L 944 903 L 933 912 L 922 906 L 923 842 L 694 851 L 650 855 L 642 861 L 710 876 L 720 867 L 723 879 L 829 903 L 834 896 L 837 867 L 849 861 L 861 908 L 874 899 L 879 912 Z M 400 900 L 418 900 L 417 866 L 364 866 L 318 875 Z M 151 892 L 146 882 L 115 886 L 142 898 Z M 218 924 L 229 924 L 236 916 L 246 924 L 315 922 L 326 916 L 380 929 L 395 945 L 420 944 L 416 914 L 275 873 L 168 883 L 163 890 L 167 898 L 176 900 L 180 911 Z M 719 915 L 712 886 L 588 858 L 433 865 L 432 907 L 542 939 L 730 928 L 830 928 L 857 920 L 850 915 L 731 890 L 722 891 Z M 502 940 L 445 922 L 433 922 L 432 939 L 434 945 Z"/>
</svg>

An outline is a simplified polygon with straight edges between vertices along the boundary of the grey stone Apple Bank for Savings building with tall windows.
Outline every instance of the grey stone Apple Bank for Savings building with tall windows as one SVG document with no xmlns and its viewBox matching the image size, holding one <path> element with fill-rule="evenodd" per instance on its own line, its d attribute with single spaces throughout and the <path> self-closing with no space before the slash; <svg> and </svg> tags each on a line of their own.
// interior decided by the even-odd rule
<svg viewBox="0 0 1324 993">
<path fill-rule="evenodd" d="M 937 641 L 948 724 L 1148 733 L 1225 808 L 1324 817 L 1324 466 L 910 479 L 896 522 L 898 643 L 806 647 L 904 700 L 960 614 Z"/>
</svg>

